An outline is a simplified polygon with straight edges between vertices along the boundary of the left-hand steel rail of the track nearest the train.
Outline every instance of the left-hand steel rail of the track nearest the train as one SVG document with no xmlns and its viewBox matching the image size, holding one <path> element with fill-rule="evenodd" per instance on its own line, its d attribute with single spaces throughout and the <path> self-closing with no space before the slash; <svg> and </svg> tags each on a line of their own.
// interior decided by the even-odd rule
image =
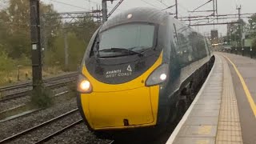
<svg viewBox="0 0 256 144">
<path fill-rule="evenodd" d="M 56 118 L 52 118 L 52 119 L 50 119 L 50 120 L 48 120 L 48 121 L 46 121 L 46 122 L 43 122 L 43 123 L 39 124 L 38 126 L 31 127 L 31 128 L 29 128 L 29 129 L 27 129 L 27 130 L 23 130 L 22 132 L 20 132 L 20 133 L 18 133 L 18 134 L 14 134 L 14 135 L 12 135 L 12 136 L 10 136 L 10 137 L 8 137 L 8 138 L 2 139 L 2 140 L 0 141 L 0 143 L 3 143 L 3 142 L 10 142 L 10 141 L 12 141 L 12 140 L 14 140 L 14 139 L 16 139 L 16 138 L 18 138 L 18 137 L 21 137 L 22 135 L 25 135 L 25 134 L 27 134 L 27 133 L 33 131 L 33 130 L 36 130 L 36 129 L 38 129 L 38 128 L 41 128 L 42 126 L 46 126 L 47 124 L 50 124 L 50 123 L 52 123 L 52 122 L 55 122 L 55 121 L 57 121 L 57 120 L 59 120 L 59 119 L 61 119 L 61 118 L 64 118 L 64 117 L 66 117 L 66 116 L 68 116 L 68 115 L 70 115 L 70 114 L 73 114 L 74 112 L 77 112 L 77 111 L 78 111 L 78 109 L 70 110 L 69 112 L 67 112 L 67 113 L 65 113 L 65 114 L 59 115 L 59 116 L 56 117 Z"/>
</svg>

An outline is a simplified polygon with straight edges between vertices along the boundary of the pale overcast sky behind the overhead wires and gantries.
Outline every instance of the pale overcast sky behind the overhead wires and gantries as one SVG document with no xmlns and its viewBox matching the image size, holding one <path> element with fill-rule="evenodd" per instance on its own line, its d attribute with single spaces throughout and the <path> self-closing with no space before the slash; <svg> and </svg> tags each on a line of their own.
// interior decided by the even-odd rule
<svg viewBox="0 0 256 144">
<path fill-rule="evenodd" d="M 52 3 L 54 4 L 54 9 L 58 10 L 58 12 L 69 12 L 69 11 L 86 11 L 91 10 L 92 7 L 96 8 L 96 5 L 100 5 L 102 0 L 41 0 L 42 2 Z M 54 2 L 55 1 L 55 2 Z M 193 15 L 210 15 L 210 13 L 197 13 L 191 14 L 188 13 L 188 10 L 194 10 L 196 7 L 202 5 L 209 0 L 178 0 L 178 12 L 179 17 L 183 16 L 191 16 Z M 73 6 L 68 6 L 59 2 L 64 2 L 66 4 L 70 4 Z M 108 2 L 108 11 L 118 3 L 119 0 L 113 2 L 111 4 Z M 118 7 L 118 10 L 114 12 L 114 14 L 118 14 L 122 10 L 128 10 L 133 7 L 155 7 L 159 10 L 166 8 L 166 6 L 174 5 L 175 0 L 124 0 L 121 6 Z M 236 6 L 242 6 L 242 14 L 244 13 L 256 13 L 255 0 L 218 0 L 218 14 L 237 14 L 238 10 L 236 10 Z M 212 10 L 213 3 L 210 2 L 206 6 L 203 6 L 199 10 Z M 174 13 L 175 9 L 172 8 L 168 10 L 168 12 Z M 113 14 L 113 16 L 114 16 Z M 225 20 L 226 21 L 226 20 Z M 231 21 L 231 19 L 229 20 Z M 219 22 L 224 22 L 224 20 L 219 20 Z M 226 21 L 227 22 L 227 21 Z M 203 23 L 203 22 L 202 22 Z M 226 26 L 200 26 L 194 27 L 195 30 L 199 30 L 201 33 L 209 33 L 212 29 L 218 29 L 222 35 L 226 34 Z"/>
</svg>

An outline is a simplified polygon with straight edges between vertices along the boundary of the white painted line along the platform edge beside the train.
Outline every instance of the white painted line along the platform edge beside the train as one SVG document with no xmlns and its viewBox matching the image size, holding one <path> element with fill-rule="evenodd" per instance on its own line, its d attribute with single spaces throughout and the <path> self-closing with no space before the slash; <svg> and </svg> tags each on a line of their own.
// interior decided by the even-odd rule
<svg viewBox="0 0 256 144">
<path fill-rule="evenodd" d="M 177 137 L 179 130 L 181 130 L 182 126 L 183 126 L 184 123 L 186 122 L 186 119 L 189 117 L 189 115 L 190 115 L 192 109 L 194 108 L 195 103 L 198 102 L 198 99 L 200 98 L 200 95 L 202 94 L 202 90 L 205 89 L 206 84 L 207 84 L 207 82 L 209 81 L 210 76 L 211 76 L 211 74 L 213 73 L 214 68 L 216 67 L 216 61 L 217 61 L 217 57 L 218 57 L 218 56 L 216 56 L 215 54 L 214 54 L 214 56 L 215 56 L 214 66 L 213 66 L 213 68 L 210 70 L 210 73 L 209 73 L 208 77 L 206 78 L 206 82 L 203 83 L 203 85 L 202 85 L 201 89 L 199 90 L 197 96 L 194 98 L 194 101 L 191 103 L 189 109 L 186 110 L 186 113 L 183 115 L 181 121 L 178 122 L 178 125 L 176 126 L 175 130 L 173 131 L 173 133 L 170 135 L 170 138 L 168 139 L 168 141 L 166 142 L 166 144 L 172 144 L 172 143 L 174 142 L 174 139 Z"/>
</svg>

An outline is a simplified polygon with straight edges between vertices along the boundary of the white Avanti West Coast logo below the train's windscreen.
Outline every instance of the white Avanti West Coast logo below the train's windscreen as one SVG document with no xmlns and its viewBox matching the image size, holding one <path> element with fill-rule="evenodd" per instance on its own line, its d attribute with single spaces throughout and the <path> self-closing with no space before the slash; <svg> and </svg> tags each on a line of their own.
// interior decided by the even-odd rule
<svg viewBox="0 0 256 144">
<path fill-rule="evenodd" d="M 127 77 L 132 74 L 132 68 L 131 66 L 127 66 L 126 70 L 109 70 L 106 71 L 106 78 L 115 78 L 115 77 Z"/>
</svg>

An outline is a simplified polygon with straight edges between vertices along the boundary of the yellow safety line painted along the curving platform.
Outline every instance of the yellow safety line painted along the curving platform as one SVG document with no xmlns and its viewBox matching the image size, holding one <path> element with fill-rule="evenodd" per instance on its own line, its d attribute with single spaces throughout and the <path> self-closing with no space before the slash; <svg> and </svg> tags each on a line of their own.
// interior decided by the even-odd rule
<svg viewBox="0 0 256 144">
<path fill-rule="evenodd" d="M 240 74 L 240 72 L 239 72 L 237 66 L 234 65 L 234 62 L 232 62 L 232 61 L 230 60 L 230 58 L 227 58 L 227 57 L 224 56 L 224 55 L 222 55 L 222 56 L 225 57 L 228 61 L 230 61 L 230 63 L 231 63 L 232 66 L 234 67 L 234 70 L 237 72 L 238 77 L 239 77 L 239 79 L 240 79 L 240 81 L 241 81 L 241 83 L 242 83 L 242 88 L 243 88 L 243 90 L 244 90 L 245 93 L 246 93 L 247 100 L 248 100 L 248 102 L 250 103 L 250 108 L 251 108 L 251 110 L 253 110 L 254 116 L 255 116 L 255 118 L 256 118 L 256 105 L 255 105 L 254 99 L 252 98 L 252 96 L 251 96 L 251 94 L 250 94 L 250 91 L 249 91 L 248 87 L 246 86 L 245 80 L 242 78 L 242 75 Z"/>
</svg>

